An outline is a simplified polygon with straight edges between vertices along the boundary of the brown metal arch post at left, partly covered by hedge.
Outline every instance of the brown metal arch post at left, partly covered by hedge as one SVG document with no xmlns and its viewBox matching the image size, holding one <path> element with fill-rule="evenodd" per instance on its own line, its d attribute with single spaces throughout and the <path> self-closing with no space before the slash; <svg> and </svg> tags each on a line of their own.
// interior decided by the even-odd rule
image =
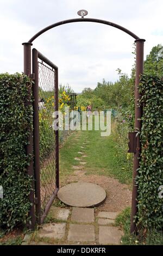
<svg viewBox="0 0 163 256">
<path fill-rule="evenodd" d="M 24 74 L 31 77 L 31 46 L 32 44 L 29 42 L 24 42 L 22 44 L 24 46 Z M 27 105 L 30 105 L 31 100 L 31 88 L 28 87 L 28 101 Z M 30 130 L 30 135 L 28 136 L 28 145 L 26 147 L 26 154 L 33 156 L 33 138 L 32 138 L 32 129 Z M 27 167 L 27 173 L 32 179 L 34 178 L 33 172 L 33 157 L 31 157 L 29 166 Z M 29 194 L 29 201 L 32 203 L 30 207 L 29 216 L 30 222 L 28 223 L 29 229 L 34 229 L 35 227 L 35 206 L 34 206 L 34 179 L 32 180 L 32 190 Z"/>
</svg>

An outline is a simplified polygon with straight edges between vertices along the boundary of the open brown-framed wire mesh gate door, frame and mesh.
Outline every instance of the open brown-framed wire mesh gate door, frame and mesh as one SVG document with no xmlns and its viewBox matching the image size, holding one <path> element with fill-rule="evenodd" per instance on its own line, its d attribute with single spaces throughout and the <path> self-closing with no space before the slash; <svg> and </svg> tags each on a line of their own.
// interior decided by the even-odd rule
<svg viewBox="0 0 163 256">
<path fill-rule="evenodd" d="M 35 211 L 41 224 L 59 190 L 58 67 L 33 49 Z M 55 123 L 54 123 L 55 122 Z"/>
</svg>

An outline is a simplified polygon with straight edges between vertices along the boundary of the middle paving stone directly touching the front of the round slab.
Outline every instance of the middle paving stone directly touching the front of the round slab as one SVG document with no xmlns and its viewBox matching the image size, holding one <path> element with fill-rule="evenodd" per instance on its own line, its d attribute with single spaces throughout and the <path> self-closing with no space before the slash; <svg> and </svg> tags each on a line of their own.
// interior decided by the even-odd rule
<svg viewBox="0 0 163 256">
<path fill-rule="evenodd" d="M 93 208 L 80 208 L 73 207 L 71 221 L 76 222 L 93 222 L 94 221 L 94 209 Z"/>
</svg>

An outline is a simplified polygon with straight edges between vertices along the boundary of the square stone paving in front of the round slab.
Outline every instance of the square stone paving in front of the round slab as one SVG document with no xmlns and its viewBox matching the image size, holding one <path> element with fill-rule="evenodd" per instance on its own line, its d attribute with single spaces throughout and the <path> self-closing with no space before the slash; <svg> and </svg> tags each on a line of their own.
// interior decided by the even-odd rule
<svg viewBox="0 0 163 256">
<path fill-rule="evenodd" d="M 71 209 L 59 208 L 52 206 L 50 212 L 57 217 L 60 223 L 46 223 L 42 224 L 38 237 L 45 237 L 45 242 L 42 240 L 41 244 L 46 245 L 47 239 L 50 239 L 51 244 L 80 244 L 83 245 L 120 245 L 123 231 L 118 227 L 114 227 L 115 217 L 117 212 L 102 211 L 95 214 L 93 208 L 78 208 Z M 61 222 L 61 220 L 63 220 Z M 109 223 L 109 220 L 111 223 Z M 43 239 L 43 238 L 42 238 Z M 56 242 L 55 242 L 56 241 Z M 38 242 L 30 241 L 30 236 L 24 237 L 22 245 L 36 245 Z"/>
</svg>

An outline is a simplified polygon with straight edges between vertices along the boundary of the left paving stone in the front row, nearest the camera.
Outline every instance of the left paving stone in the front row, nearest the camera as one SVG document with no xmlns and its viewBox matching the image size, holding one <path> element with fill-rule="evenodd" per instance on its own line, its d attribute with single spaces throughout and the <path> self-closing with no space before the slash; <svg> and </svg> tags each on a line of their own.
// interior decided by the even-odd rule
<svg viewBox="0 0 163 256">
<path fill-rule="evenodd" d="M 62 239 L 65 236 L 66 223 L 47 223 L 43 224 L 39 230 L 40 237 Z"/>
</svg>

